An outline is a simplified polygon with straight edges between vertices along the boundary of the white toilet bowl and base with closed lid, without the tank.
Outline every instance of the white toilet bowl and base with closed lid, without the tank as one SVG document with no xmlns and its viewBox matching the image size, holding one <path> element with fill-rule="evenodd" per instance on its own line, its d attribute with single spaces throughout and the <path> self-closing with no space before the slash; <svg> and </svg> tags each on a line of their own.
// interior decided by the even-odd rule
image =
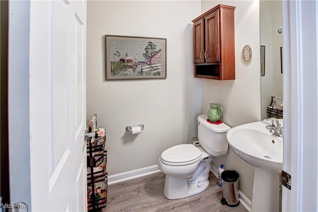
<svg viewBox="0 0 318 212">
<path fill-rule="evenodd" d="M 180 144 L 171 148 L 162 152 L 158 164 L 159 169 L 165 173 L 164 196 L 180 199 L 204 191 L 209 186 L 212 156 L 202 147 L 193 144 Z M 170 154 L 175 157 L 169 157 Z"/>
</svg>

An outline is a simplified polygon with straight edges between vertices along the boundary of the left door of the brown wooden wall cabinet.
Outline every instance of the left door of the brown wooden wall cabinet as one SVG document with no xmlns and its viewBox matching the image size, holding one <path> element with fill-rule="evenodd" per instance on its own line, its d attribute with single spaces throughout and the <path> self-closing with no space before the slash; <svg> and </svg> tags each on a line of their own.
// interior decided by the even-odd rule
<svg viewBox="0 0 318 212">
<path fill-rule="evenodd" d="M 203 19 L 193 24 L 193 56 L 194 63 L 204 63 Z"/>
</svg>

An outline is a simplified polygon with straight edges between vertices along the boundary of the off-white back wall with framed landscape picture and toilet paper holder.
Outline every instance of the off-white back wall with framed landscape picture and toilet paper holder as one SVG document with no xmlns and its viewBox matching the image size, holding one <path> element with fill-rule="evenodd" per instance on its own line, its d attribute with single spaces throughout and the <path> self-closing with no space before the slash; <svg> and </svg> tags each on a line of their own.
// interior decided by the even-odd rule
<svg viewBox="0 0 318 212">
<path fill-rule="evenodd" d="M 201 113 L 201 80 L 193 77 L 191 20 L 200 1 L 87 2 L 87 120 L 107 130 L 109 175 L 158 163 L 161 152 L 190 142 Z M 104 35 L 167 38 L 167 78 L 105 81 Z M 132 136 L 126 125 L 145 124 Z"/>
</svg>

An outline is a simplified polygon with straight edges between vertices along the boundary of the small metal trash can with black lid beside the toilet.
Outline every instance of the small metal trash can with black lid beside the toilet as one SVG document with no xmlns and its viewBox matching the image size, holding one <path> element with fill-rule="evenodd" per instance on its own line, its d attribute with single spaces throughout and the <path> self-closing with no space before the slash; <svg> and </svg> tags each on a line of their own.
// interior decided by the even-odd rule
<svg viewBox="0 0 318 212">
<path fill-rule="evenodd" d="M 239 173 L 226 170 L 222 172 L 222 199 L 221 203 L 230 207 L 239 205 Z"/>
</svg>

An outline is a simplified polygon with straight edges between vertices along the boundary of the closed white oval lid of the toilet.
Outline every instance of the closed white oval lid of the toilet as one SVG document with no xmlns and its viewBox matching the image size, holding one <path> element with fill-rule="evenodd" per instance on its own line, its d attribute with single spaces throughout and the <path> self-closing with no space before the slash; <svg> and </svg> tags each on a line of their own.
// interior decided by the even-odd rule
<svg viewBox="0 0 318 212">
<path fill-rule="evenodd" d="M 196 162 L 200 160 L 201 157 L 201 151 L 193 144 L 175 145 L 161 153 L 161 159 L 163 162 L 177 163 L 180 165 Z"/>
</svg>

